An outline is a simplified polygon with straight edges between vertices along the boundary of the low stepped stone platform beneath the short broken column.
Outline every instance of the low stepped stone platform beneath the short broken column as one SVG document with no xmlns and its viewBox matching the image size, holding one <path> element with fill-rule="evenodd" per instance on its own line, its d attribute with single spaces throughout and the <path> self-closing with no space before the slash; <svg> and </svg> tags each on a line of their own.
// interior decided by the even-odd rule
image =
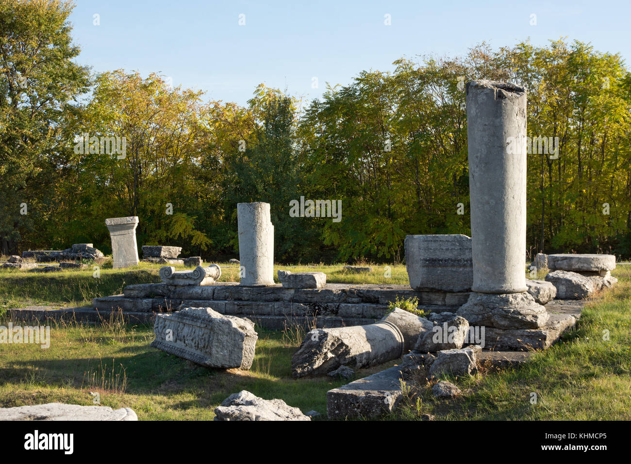
<svg viewBox="0 0 631 464">
<path fill-rule="evenodd" d="M 455 312 L 468 292 L 417 292 L 408 285 L 353 285 L 327 283 L 321 289 L 293 289 L 282 285 L 242 287 L 236 282 L 174 286 L 167 283 L 128 285 L 124 295 L 93 300 L 98 311 L 167 312 L 179 307 L 212 307 L 222 314 L 250 318 L 278 330 L 285 324 L 330 328 L 374 323 L 397 298 L 416 297 L 419 309 Z"/>
</svg>

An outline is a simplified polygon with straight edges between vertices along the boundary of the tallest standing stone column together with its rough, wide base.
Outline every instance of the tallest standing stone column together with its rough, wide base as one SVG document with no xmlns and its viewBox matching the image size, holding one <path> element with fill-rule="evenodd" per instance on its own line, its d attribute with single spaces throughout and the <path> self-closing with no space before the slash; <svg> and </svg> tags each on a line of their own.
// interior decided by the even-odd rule
<svg viewBox="0 0 631 464">
<path fill-rule="evenodd" d="M 550 318 L 526 291 L 526 89 L 480 80 L 466 93 L 473 291 L 457 314 L 519 349 L 514 329 Z"/>
</svg>

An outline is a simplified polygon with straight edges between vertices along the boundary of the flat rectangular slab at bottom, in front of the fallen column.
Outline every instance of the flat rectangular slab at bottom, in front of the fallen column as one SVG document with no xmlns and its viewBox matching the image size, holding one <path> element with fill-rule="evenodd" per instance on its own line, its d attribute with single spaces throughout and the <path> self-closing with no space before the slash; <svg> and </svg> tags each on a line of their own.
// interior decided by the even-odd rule
<svg viewBox="0 0 631 464">
<path fill-rule="evenodd" d="M 326 393 L 329 419 L 377 417 L 394 411 L 401 403 L 401 368 L 391 367 Z"/>
</svg>

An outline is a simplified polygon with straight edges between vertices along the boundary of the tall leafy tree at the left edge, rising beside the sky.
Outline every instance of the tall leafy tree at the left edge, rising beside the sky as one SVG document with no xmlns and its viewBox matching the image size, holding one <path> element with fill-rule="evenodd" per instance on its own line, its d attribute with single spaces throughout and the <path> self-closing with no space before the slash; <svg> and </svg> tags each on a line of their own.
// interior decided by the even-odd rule
<svg viewBox="0 0 631 464">
<path fill-rule="evenodd" d="M 71 3 L 0 0 L 0 240 L 15 251 L 49 219 L 54 185 L 67 172 L 66 117 L 89 85 L 88 68 L 72 60 Z M 71 139 L 70 139 L 71 140 Z"/>
</svg>

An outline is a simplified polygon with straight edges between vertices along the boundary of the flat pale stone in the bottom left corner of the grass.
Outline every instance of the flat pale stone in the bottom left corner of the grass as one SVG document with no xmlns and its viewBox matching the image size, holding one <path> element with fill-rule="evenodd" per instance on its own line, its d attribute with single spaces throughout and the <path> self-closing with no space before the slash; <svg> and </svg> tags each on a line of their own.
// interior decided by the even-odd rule
<svg viewBox="0 0 631 464">
<path fill-rule="evenodd" d="M 0 420 L 138 420 L 138 416 L 130 408 L 47 403 L 0 408 Z"/>
</svg>

